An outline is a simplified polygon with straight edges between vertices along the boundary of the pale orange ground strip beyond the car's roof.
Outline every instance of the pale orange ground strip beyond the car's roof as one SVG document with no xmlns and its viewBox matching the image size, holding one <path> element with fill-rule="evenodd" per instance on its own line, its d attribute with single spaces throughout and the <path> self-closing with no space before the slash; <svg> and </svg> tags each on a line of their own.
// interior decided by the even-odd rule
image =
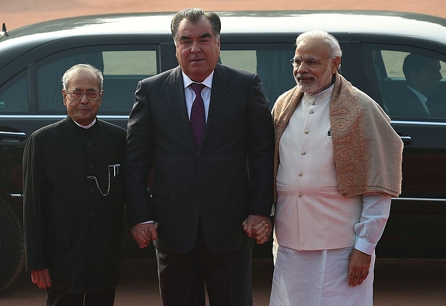
<svg viewBox="0 0 446 306">
<path fill-rule="evenodd" d="M 444 0 L 0 0 L 0 24 L 8 30 L 61 17 L 102 13 L 203 10 L 401 10 L 446 17 Z M 317 26 L 315 24 L 315 26 Z"/>
</svg>

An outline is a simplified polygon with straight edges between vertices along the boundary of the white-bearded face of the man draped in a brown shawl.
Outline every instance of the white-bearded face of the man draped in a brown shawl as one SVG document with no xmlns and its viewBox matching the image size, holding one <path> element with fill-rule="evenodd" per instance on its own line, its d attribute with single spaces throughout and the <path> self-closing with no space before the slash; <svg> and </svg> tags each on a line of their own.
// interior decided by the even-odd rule
<svg viewBox="0 0 446 306">
<path fill-rule="evenodd" d="M 315 60 L 316 67 L 309 67 L 305 61 L 302 65 L 293 67 L 293 74 L 298 88 L 302 92 L 318 93 L 332 85 L 333 74 L 341 63 L 341 57 L 330 58 L 330 48 L 319 40 L 300 42 L 295 49 L 295 58 Z"/>
</svg>

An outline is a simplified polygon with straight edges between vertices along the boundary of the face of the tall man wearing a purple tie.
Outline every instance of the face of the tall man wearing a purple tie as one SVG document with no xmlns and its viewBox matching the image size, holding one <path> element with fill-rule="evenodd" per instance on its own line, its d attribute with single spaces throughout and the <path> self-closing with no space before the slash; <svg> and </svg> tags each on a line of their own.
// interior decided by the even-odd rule
<svg viewBox="0 0 446 306">
<path fill-rule="evenodd" d="M 202 82 L 215 69 L 220 56 L 220 39 L 206 18 L 197 23 L 183 19 L 176 37 L 176 58 L 192 81 Z"/>
</svg>

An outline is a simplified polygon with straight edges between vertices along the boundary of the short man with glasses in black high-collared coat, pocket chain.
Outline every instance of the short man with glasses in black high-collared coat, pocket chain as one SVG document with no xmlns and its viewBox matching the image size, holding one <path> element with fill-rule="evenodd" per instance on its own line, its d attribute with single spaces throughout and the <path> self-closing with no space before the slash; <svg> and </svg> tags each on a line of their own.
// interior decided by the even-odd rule
<svg viewBox="0 0 446 306">
<path fill-rule="evenodd" d="M 23 156 L 26 269 L 47 305 L 112 306 L 121 270 L 125 129 L 98 120 L 102 72 L 63 74 L 66 119 L 31 134 Z"/>
</svg>

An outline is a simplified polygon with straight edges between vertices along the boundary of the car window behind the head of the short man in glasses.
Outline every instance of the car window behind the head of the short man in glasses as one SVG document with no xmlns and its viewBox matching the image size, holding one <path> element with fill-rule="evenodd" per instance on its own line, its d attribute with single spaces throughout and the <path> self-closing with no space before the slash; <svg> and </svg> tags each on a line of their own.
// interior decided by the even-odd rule
<svg viewBox="0 0 446 306">
<path fill-rule="evenodd" d="M 134 101 L 137 82 L 157 73 L 154 50 L 71 49 L 36 63 L 38 113 L 66 113 L 61 77 L 76 63 L 90 63 L 102 70 L 104 96 L 98 114 L 127 115 Z"/>
</svg>

